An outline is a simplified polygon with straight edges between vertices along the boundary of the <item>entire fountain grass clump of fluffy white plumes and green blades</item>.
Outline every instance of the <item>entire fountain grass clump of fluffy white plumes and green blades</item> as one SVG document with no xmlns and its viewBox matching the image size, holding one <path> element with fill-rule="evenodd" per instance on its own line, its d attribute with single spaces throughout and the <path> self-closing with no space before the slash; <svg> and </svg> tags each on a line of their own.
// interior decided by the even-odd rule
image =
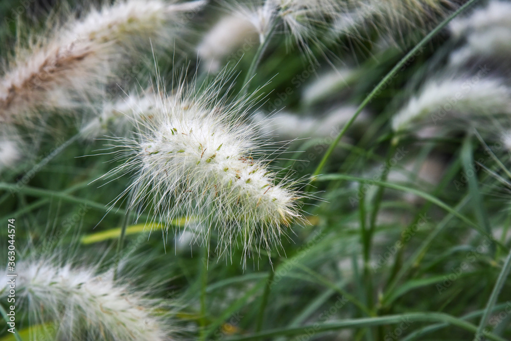
<svg viewBox="0 0 511 341">
<path fill-rule="evenodd" d="M 428 333 L 432 339 L 474 333 L 477 340 L 508 338 L 509 217 L 506 206 L 486 199 L 495 188 L 508 196 L 509 188 L 501 175 L 510 176 L 508 162 L 498 160 L 507 160 L 511 145 L 511 87 L 502 53 L 509 48 L 509 3 L 489 1 L 452 22 L 450 36 L 432 41 L 475 2 L 222 0 L 199 14 L 205 1 L 124 0 L 86 7 L 63 24 L 49 20 L 43 33 L 18 42 L 4 63 L 0 118 L 7 124 L 0 127 L 0 171 L 10 178 L 2 178 L 0 189 L 12 193 L 0 195 L 0 207 L 13 210 L 16 223 L 9 223 L 17 226 L 17 240 L 48 245 L 55 242 L 50 229 L 92 228 L 102 219 L 99 231 L 77 235 L 88 245 L 84 259 L 111 240 L 118 240 L 111 246 L 117 258 L 103 263 L 114 253 L 108 252 L 91 265 L 57 250 L 41 257 L 10 255 L 16 258 L 17 326 L 28 324 L 31 339 L 59 341 L 168 340 L 179 337 L 177 319 L 199 326 L 194 337 L 201 340 L 412 340 Z M 199 60 L 175 80 L 175 59 L 154 56 L 172 48 L 192 18 L 184 14 L 197 14 L 196 27 L 216 10 L 220 19 L 211 30 L 187 35 Z M 408 48 L 416 34 L 425 36 L 396 64 L 396 44 Z M 350 38 L 360 40 L 357 47 Z M 246 39 L 254 40 L 247 49 Z M 300 53 L 289 53 L 289 40 Z M 115 84 L 123 77 L 119 65 L 151 50 L 153 87 L 144 80 Z M 327 56 L 337 52 L 352 66 L 338 63 L 335 73 L 315 75 L 318 67 L 334 65 Z M 244 81 L 236 84 L 238 73 L 226 71 L 226 64 L 237 70 L 245 63 L 241 56 L 252 53 L 248 70 L 240 72 Z M 304 55 L 317 60 L 307 77 L 300 73 Z M 351 63 L 361 58 L 360 65 Z M 272 73 L 265 85 L 250 86 Z M 412 74 L 417 77 L 408 80 Z M 106 98 L 112 86 L 125 90 L 125 97 Z M 405 98 L 412 88 L 415 93 Z M 265 110 L 271 98 L 286 108 Z M 273 108 L 281 106 L 275 103 Z M 34 170 L 3 172 L 20 151 L 33 149 L 19 135 L 38 122 L 50 118 L 51 125 L 52 113 L 79 116 L 98 108 L 96 117 L 80 115 L 85 123 L 79 127 L 57 119 L 65 134 L 78 134 L 38 155 Z M 362 137 L 336 150 L 357 123 Z M 446 134 L 409 136 L 424 126 L 440 126 Z M 78 137 L 87 143 L 74 144 Z M 101 155 L 76 158 L 99 144 L 106 144 Z M 276 145 L 306 152 L 297 150 L 283 162 Z M 303 178 L 286 164 L 300 173 L 314 167 L 308 186 L 317 184 L 329 202 L 309 200 L 311 187 L 303 189 Z M 91 188 L 91 179 L 105 184 Z M 305 216 L 306 202 L 317 204 L 317 216 Z M 44 232 L 25 229 L 26 222 L 41 220 L 41 207 L 65 220 L 48 223 Z M 292 229 L 304 221 L 313 226 Z M 179 252 L 172 255 L 167 241 L 175 225 Z M 143 233 L 156 228 L 164 245 Z M 69 238 L 57 239 L 69 246 Z M 188 243 L 202 246 L 202 259 L 197 261 L 196 248 L 184 250 Z M 139 247 L 136 257 L 129 256 Z M 249 258 L 266 255 L 269 262 L 247 268 Z M 231 265 L 208 263 L 220 257 Z M 136 285 L 125 265 L 150 285 Z M 165 285 L 155 285 L 160 278 Z M 493 290 L 485 292 L 490 281 Z M 8 290 L 0 283 L 0 299 Z M 181 290 L 190 304 L 177 313 L 166 297 Z M 417 292 L 427 300 L 417 304 Z M 0 313 L 6 320 L 1 302 Z M 404 321 L 410 321 L 406 328 L 395 328 Z"/>
</svg>

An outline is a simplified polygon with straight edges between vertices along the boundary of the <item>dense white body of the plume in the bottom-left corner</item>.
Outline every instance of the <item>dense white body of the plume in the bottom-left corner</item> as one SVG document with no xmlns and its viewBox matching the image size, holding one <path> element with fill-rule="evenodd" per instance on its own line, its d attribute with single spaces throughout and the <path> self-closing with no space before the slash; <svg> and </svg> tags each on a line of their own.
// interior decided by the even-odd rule
<svg viewBox="0 0 511 341">
<path fill-rule="evenodd" d="M 160 305 L 145 292 L 114 282 L 113 272 L 98 275 L 95 267 L 57 263 L 56 256 L 16 263 L 16 307 L 27 309 L 37 324 L 50 322 L 41 329 L 46 335 L 33 339 L 171 339 L 169 322 L 158 312 Z M 9 278 L 7 270 L 0 275 Z M 7 281 L 2 281 L 0 297 L 8 294 Z"/>
</svg>

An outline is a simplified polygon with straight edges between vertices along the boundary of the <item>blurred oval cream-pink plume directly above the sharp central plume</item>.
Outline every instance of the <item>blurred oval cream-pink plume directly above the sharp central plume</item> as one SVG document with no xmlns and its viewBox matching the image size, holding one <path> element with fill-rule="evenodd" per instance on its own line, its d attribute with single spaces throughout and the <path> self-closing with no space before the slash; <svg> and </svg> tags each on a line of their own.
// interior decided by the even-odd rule
<svg viewBox="0 0 511 341">
<path fill-rule="evenodd" d="M 197 53 L 208 71 L 218 72 L 223 59 L 239 59 L 258 43 L 258 32 L 252 22 L 233 13 L 222 17 L 204 35 Z"/>
</svg>

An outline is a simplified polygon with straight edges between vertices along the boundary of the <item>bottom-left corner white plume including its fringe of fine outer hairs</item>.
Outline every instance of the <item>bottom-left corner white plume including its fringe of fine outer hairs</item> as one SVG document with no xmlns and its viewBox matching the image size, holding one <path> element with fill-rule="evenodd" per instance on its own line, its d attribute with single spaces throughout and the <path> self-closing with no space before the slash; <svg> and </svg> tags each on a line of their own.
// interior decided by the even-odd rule
<svg viewBox="0 0 511 341">
<path fill-rule="evenodd" d="M 56 235 L 45 237 L 52 240 Z M 150 298 L 151 283 L 134 285 L 132 276 L 120 272 L 115 279 L 120 268 L 101 264 L 108 253 L 85 262 L 87 250 L 64 247 L 62 240 L 57 247 L 30 244 L 17 254 L 13 303 L 18 319 L 28 319 L 31 340 L 164 341 L 182 334 L 173 318 L 175 304 Z M 94 255 L 98 257 L 97 250 Z M 0 270 L 4 278 L 8 273 Z M 9 284 L 3 281 L 0 298 L 7 301 L 8 294 Z M 20 322 L 16 329 L 27 327 Z"/>
</svg>

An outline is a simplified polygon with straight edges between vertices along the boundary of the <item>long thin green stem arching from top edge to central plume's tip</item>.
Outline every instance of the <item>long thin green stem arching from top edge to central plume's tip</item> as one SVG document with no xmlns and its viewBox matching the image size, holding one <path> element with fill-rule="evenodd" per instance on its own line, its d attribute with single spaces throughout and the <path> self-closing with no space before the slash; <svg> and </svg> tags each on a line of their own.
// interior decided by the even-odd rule
<svg viewBox="0 0 511 341">
<path fill-rule="evenodd" d="M 385 76 L 383 77 L 383 79 L 375 86 L 375 88 L 373 89 L 373 91 L 371 91 L 369 93 L 369 95 L 367 95 L 367 97 L 364 99 L 364 101 L 362 102 L 362 104 L 360 104 L 360 106 L 357 108 L 357 110 L 355 111 L 354 115 L 352 116 L 352 118 L 342 127 L 342 130 L 339 132 L 339 134 L 337 135 L 337 138 L 334 140 L 334 142 L 332 142 L 332 144 L 330 145 L 330 147 L 328 148 L 327 152 L 324 154 L 323 158 L 321 159 L 321 162 L 319 163 L 318 167 L 316 168 L 316 170 L 314 171 L 314 173 L 312 174 L 311 176 L 311 181 L 314 181 L 315 177 L 317 175 L 319 175 L 323 169 L 323 167 L 327 164 L 327 161 L 330 157 L 330 155 L 332 155 L 332 152 L 334 151 L 335 147 L 337 146 L 337 144 L 339 143 L 339 141 L 341 141 L 342 137 L 344 136 L 344 134 L 346 133 L 346 131 L 350 128 L 350 126 L 353 124 L 353 122 L 355 122 L 355 120 L 357 119 L 358 115 L 360 114 L 360 112 L 362 111 L 362 109 L 371 101 L 373 100 L 373 98 L 375 98 L 377 95 L 377 93 L 381 90 L 381 88 L 387 84 L 387 82 L 390 80 L 390 78 L 394 77 L 395 75 L 397 75 L 398 71 L 401 69 L 401 67 L 407 62 L 408 59 L 410 59 L 410 57 L 412 57 L 415 53 L 419 52 L 419 50 L 426 45 L 426 43 L 428 43 L 436 34 L 438 34 L 440 32 L 440 30 L 442 30 L 444 27 L 447 26 L 447 24 L 449 24 L 449 22 L 454 18 L 456 17 L 458 14 L 460 14 L 461 12 L 463 12 L 464 10 L 466 10 L 468 7 L 470 7 L 472 4 L 476 3 L 478 0 L 469 0 L 467 3 L 465 3 L 463 6 L 461 6 L 460 8 L 458 8 L 453 14 L 451 14 L 449 17 L 447 17 L 444 21 L 440 22 L 440 24 L 435 27 L 435 29 L 433 31 L 431 31 L 430 33 L 428 33 L 428 35 L 426 35 L 419 43 L 417 43 L 415 45 L 415 47 L 413 49 L 410 50 L 410 52 L 408 52 L 400 61 L 399 63 L 396 64 L 396 66 L 394 66 L 392 68 L 392 70 L 390 70 L 390 72 Z"/>
</svg>

